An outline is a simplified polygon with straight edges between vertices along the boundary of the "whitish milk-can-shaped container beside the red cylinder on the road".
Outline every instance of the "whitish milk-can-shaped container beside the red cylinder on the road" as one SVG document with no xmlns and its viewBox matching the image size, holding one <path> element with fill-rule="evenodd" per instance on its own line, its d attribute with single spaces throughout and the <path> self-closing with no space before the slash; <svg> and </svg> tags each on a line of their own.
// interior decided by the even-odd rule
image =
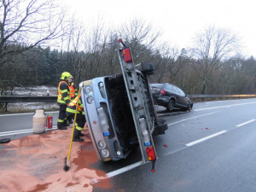
<svg viewBox="0 0 256 192">
<path fill-rule="evenodd" d="M 36 110 L 33 115 L 33 133 L 44 133 L 45 132 L 46 116 L 43 109 Z"/>
</svg>

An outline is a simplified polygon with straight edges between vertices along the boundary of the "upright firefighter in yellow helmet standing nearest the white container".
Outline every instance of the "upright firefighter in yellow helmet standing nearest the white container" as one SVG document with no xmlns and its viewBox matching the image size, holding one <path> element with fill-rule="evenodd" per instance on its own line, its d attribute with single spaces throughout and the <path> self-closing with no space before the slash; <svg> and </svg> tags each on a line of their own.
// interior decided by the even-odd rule
<svg viewBox="0 0 256 192">
<path fill-rule="evenodd" d="M 57 123 L 57 127 L 59 130 L 67 130 L 67 114 L 66 109 L 67 105 L 70 102 L 70 91 L 69 86 L 70 82 L 72 82 L 72 75 L 68 72 L 63 72 L 61 74 L 61 81 L 58 86 L 58 99 L 57 103 L 60 106 L 59 119 Z"/>
</svg>

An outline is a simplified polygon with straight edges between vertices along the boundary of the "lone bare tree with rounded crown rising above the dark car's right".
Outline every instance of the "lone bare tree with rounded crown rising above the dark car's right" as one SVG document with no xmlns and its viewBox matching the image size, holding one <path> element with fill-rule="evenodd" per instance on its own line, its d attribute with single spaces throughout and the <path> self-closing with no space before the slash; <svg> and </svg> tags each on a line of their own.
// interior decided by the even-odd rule
<svg viewBox="0 0 256 192">
<path fill-rule="evenodd" d="M 191 52 L 197 59 L 194 69 L 201 79 L 201 94 L 205 93 L 212 73 L 218 69 L 220 61 L 238 48 L 236 35 L 226 28 L 210 26 L 196 36 L 195 48 Z"/>
</svg>

